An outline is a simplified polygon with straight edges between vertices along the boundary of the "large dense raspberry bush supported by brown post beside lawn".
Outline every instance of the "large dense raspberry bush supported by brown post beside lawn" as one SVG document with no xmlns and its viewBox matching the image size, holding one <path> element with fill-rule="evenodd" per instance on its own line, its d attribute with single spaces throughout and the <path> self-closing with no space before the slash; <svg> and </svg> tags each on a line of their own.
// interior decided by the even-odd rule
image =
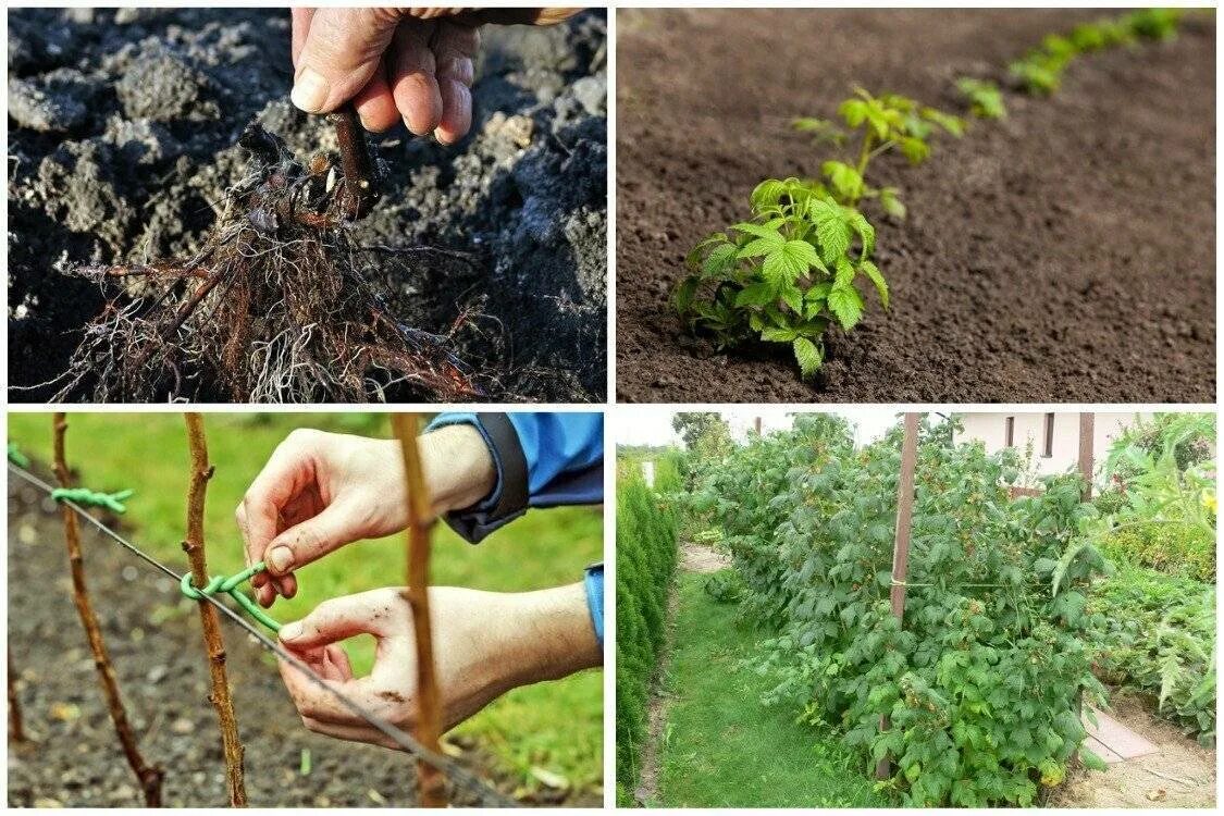
<svg viewBox="0 0 1224 816">
<path fill-rule="evenodd" d="M 727 531 L 745 608 L 777 636 L 758 670 L 807 718 L 838 727 L 864 772 L 907 805 L 1029 805 L 1082 749 L 1081 691 L 1103 700 L 1088 642 L 1100 553 L 1076 476 L 1011 500 L 1013 451 L 987 455 L 928 431 L 920 447 L 905 625 L 891 614 L 896 434 L 856 453 L 775 434 L 696 497 Z M 891 728 L 881 729 L 881 717 Z"/>
</svg>

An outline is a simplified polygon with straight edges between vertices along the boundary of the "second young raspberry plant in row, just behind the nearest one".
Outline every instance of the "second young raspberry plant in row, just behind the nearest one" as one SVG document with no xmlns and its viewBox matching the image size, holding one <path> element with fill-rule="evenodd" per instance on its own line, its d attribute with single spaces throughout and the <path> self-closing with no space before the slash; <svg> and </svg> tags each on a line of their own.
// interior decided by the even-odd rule
<svg viewBox="0 0 1224 816">
<path fill-rule="evenodd" d="M 965 122 L 957 116 L 895 93 L 873 97 L 863 88 L 854 88 L 854 95 L 837 108 L 837 114 L 849 132 L 824 119 L 793 122 L 797 131 L 812 133 L 816 144 L 842 147 L 858 133 L 858 149 L 851 160 L 829 160 L 821 165 L 825 180 L 821 188 L 846 207 L 858 207 L 864 198 L 876 199 L 880 209 L 897 219 L 906 217 L 897 188 L 867 184 L 871 160 L 897 149 L 911 164 L 922 164 L 930 155 L 930 137 L 936 130 L 956 137 L 965 132 Z"/>
</svg>

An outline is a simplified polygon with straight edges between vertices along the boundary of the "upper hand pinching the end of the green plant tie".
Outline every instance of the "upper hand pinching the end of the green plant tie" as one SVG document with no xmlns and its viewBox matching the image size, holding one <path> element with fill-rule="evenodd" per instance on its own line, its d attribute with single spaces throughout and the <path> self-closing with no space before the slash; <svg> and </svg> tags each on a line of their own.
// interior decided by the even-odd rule
<svg viewBox="0 0 1224 816">
<path fill-rule="evenodd" d="M 470 506 L 490 494 L 497 473 L 488 445 L 471 426 L 419 438 L 433 514 Z M 344 544 L 408 526 L 408 492 L 399 442 L 294 431 L 277 447 L 235 511 L 256 598 L 297 592 L 294 570 Z"/>
</svg>

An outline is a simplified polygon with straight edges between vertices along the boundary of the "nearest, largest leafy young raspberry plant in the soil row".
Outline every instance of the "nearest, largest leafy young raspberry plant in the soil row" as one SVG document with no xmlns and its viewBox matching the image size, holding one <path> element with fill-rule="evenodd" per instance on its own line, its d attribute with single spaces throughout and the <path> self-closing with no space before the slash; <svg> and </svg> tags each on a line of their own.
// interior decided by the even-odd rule
<svg viewBox="0 0 1224 816">
<path fill-rule="evenodd" d="M 692 273 L 672 303 L 690 332 L 718 349 L 752 338 L 791 345 L 804 378 L 824 362 L 825 330 L 849 330 L 863 317 L 854 281 L 864 276 L 889 305 L 889 286 L 871 261 L 875 229 L 820 182 L 763 181 L 752 218 L 715 232 L 688 256 Z"/>
</svg>

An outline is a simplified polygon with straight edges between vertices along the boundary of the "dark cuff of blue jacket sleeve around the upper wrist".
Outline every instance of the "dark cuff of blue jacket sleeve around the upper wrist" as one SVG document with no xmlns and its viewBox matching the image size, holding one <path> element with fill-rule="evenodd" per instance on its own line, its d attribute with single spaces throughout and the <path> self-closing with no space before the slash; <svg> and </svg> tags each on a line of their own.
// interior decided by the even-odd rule
<svg viewBox="0 0 1224 816">
<path fill-rule="evenodd" d="M 443 414 L 430 431 L 449 425 L 470 425 L 480 432 L 493 459 L 497 477 L 492 492 L 476 504 L 452 510 L 446 522 L 471 543 L 479 543 L 528 509 L 528 460 L 519 434 L 506 414 Z"/>
</svg>

